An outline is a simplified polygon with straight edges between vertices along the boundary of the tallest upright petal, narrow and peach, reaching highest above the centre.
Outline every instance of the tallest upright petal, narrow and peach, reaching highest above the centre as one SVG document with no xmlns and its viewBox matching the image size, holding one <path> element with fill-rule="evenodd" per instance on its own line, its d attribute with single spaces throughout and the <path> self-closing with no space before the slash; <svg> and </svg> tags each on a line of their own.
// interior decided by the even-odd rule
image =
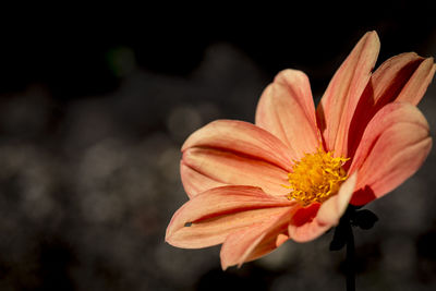
<svg viewBox="0 0 436 291">
<path fill-rule="evenodd" d="M 366 33 L 336 72 L 317 108 L 317 119 L 327 150 L 348 156 L 351 119 L 377 60 L 379 40 Z"/>
</svg>

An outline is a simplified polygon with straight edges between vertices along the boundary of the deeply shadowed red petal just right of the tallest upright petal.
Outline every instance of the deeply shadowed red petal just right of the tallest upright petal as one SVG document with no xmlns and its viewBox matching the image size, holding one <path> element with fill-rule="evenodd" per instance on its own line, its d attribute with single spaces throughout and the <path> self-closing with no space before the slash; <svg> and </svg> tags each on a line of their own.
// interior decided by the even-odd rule
<svg viewBox="0 0 436 291">
<path fill-rule="evenodd" d="M 412 75 L 421 70 L 420 64 L 423 61 L 424 58 L 414 52 L 401 53 L 385 61 L 374 72 L 351 120 L 348 138 L 349 157 L 354 156 L 371 119 L 384 106 L 398 98 Z"/>
</svg>

